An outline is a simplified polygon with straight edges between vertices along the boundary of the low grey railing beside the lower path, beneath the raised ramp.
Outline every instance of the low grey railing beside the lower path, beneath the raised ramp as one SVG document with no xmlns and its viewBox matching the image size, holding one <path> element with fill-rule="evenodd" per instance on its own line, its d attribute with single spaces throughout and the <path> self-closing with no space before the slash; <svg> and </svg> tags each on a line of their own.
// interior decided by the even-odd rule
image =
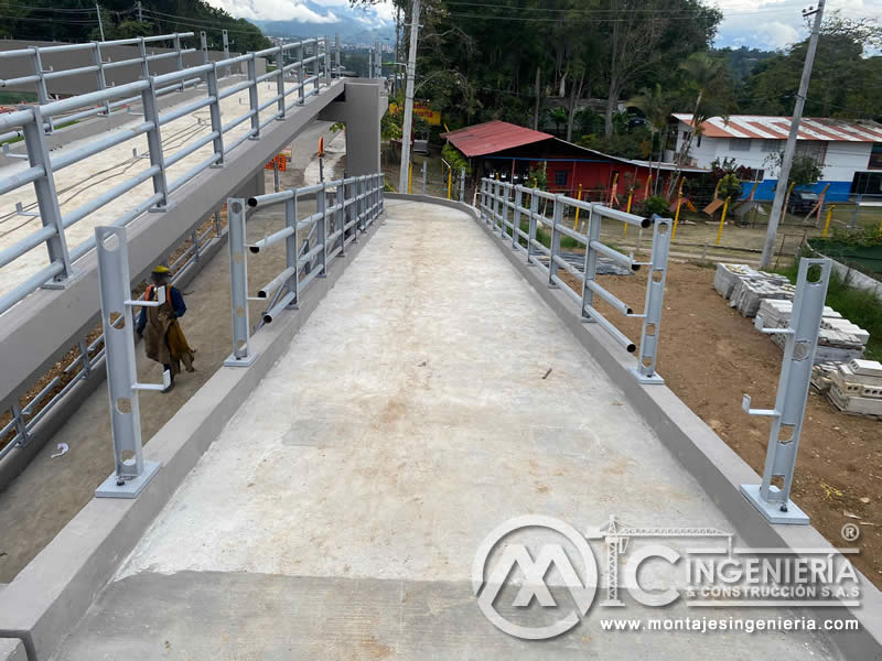
<svg viewBox="0 0 882 661">
<path fill-rule="evenodd" d="M 203 253 L 222 237 L 220 220 L 218 214 L 214 214 L 214 221 L 200 234 L 194 229 L 190 237 L 185 239 L 190 242 L 184 251 L 171 263 L 165 266 L 171 270 L 171 284 L 175 284 L 186 270 L 202 261 Z M 174 252 L 174 251 L 173 251 Z M 133 323 L 135 319 L 132 319 Z M 11 407 L 10 421 L 0 429 L 0 445 L 3 438 L 14 432 L 6 445 L 0 446 L 0 459 L 9 454 L 14 447 L 24 447 L 33 438 L 34 429 L 41 420 L 57 404 L 62 403 L 79 381 L 89 379 L 97 367 L 100 366 L 105 355 L 104 334 L 89 340 L 84 337 L 77 343 L 73 359 L 62 369 L 62 373 L 69 377 L 69 380 L 62 386 L 64 378 L 54 376 L 50 379 L 36 394 L 34 394 L 25 405 L 18 403 Z M 61 390 L 54 392 L 61 386 Z M 53 394 L 54 392 L 54 394 Z"/>
</svg>

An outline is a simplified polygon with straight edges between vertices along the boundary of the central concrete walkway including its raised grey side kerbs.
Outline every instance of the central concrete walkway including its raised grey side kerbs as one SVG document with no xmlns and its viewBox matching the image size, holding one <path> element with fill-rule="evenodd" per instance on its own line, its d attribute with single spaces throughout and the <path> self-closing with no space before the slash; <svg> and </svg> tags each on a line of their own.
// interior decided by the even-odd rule
<svg viewBox="0 0 882 661">
<path fill-rule="evenodd" d="M 738 491 L 759 477 L 474 208 L 387 196 L 383 209 L 357 241 L 343 231 L 338 267 L 299 310 L 250 338 L 248 367 L 220 368 L 147 443 L 161 468 L 137 499 L 93 500 L 0 589 L 0 651 L 4 637 L 9 654 L 72 661 L 878 658 L 865 582 L 869 629 L 849 637 L 606 631 L 805 616 L 655 608 L 627 575 L 610 608 L 610 529 L 591 542 L 601 577 L 576 628 L 530 641 L 485 618 L 473 564 L 525 514 L 580 534 L 611 517 L 677 528 L 665 543 L 680 553 L 697 530 L 829 545 L 770 525 Z M 670 568 L 647 564 L 642 587 L 666 589 Z M 547 625 L 545 606 L 530 617 Z"/>
</svg>

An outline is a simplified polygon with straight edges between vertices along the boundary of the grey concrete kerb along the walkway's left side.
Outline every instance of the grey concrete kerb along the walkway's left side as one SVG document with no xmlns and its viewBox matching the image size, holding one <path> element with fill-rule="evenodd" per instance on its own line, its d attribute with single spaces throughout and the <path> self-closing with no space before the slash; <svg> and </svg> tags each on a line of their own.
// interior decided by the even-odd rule
<svg viewBox="0 0 882 661">
<path fill-rule="evenodd" d="M 346 257 L 329 263 L 327 277 L 313 281 L 300 310 L 265 326 L 251 338 L 249 350 L 257 358 L 250 367 L 218 369 L 151 438 L 144 458 L 160 462 L 162 468 L 137 499 L 92 500 L 0 590 L 0 640 L 21 638 L 29 661 L 51 658 L 202 454 L 368 243 L 377 224 L 347 247 Z M 6 659 L 0 655 L 0 661 Z"/>
</svg>

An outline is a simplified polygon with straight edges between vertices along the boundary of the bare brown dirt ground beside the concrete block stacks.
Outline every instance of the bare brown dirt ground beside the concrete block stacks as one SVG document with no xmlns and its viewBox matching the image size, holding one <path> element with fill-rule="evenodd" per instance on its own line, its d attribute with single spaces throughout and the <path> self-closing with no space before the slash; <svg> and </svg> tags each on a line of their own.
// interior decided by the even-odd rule
<svg viewBox="0 0 882 661">
<path fill-rule="evenodd" d="M 569 274 L 566 274 L 569 279 Z M 646 275 L 601 277 L 635 310 L 643 308 Z M 603 303 L 598 310 L 628 337 L 639 340 L 639 319 L 623 318 Z M 747 415 L 741 395 L 754 405 L 774 405 L 782 351 L 756 332 L 713 290 L 713 269 L 670 264 L 660 325 L 658 372 L 667 386 L 750 466 L 762 474 L 768 421 Z M 846 415 L 826 397 L 808 398 L 793 499 L 811 524 L 837 546 L 852 546 L 842 525 L 859 523 L 854 564 L 882 587 L 882 422 Z"/>
</svg>

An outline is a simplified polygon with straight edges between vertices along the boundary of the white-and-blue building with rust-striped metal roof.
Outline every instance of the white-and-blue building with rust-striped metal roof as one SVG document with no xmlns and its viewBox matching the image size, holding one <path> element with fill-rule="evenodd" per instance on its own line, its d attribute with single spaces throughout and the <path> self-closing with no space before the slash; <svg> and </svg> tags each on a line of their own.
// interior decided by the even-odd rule
<svg viewBox="0 0 882 661">
<path fill-rule="evenodd" d="M 692 116 L 678 113 L 674 118 L 679 152 L 692 131 Z M 772 199 L 778 169 L 770 156 L 784 151 L 789 130 L 789 117 L 711 117 L 692 140 L 689 164 L 710 167 L 717 159 L 735 159 L 735 165 L 750 167 L 759 176 L 755 198 Z M 673 160 L 674 153 L 668 150 L 666 160 Z M 830 202 L 846 201 L 856 194 L 882 195 L 882 124 L 869 120 L 803 118 L 796 153 L 810 155 L 822 166 L 821 181 L 811 189 L 819 193 L 829 184 Z"/>
</svg>

